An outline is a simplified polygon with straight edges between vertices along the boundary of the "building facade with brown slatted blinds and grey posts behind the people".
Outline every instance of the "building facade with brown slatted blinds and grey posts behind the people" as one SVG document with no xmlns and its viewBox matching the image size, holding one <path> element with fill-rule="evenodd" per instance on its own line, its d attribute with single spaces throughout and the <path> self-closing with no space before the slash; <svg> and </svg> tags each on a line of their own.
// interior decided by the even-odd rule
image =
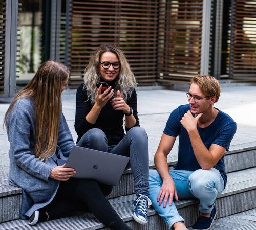
<svg viewBox="0 0 256 230">
<path fill-rule="evenodd" d="M 82 81 L 102 43 L 125 53 L 138 85 L 195 74 L 256 81 L 256 1 L 0 0 L 0 97 L 11 97 L 49 59 Z"/>
</svg>

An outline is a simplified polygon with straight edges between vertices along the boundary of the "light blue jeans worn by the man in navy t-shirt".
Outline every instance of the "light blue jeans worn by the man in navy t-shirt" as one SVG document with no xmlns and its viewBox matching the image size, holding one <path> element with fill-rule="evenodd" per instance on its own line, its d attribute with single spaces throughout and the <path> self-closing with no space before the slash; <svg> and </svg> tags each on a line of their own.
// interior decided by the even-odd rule
<svg viewBox="0 0 256 230">
<path fill-rule="evenodd" d="M 199 211 L 209 213 L 214 208 L 217 195 L 224 189 L 224 181 L 219 170 L 211 168 L 210 170 L 198 169 L 196 171 L 173 170 L 169 172 L 172 176 L 178 199 L 200 200 Z M 163 208 L 157 202 L 157 197 L 162 186 L 162 178 L 157 170 L 150 170 L 150 200 L 158 214 L 167 223 L 171 229 L 176 222 L 183 222 L 184 219 L 179 215 L 174 202 L 169 206 L 168 202 Z"/>
</svg>

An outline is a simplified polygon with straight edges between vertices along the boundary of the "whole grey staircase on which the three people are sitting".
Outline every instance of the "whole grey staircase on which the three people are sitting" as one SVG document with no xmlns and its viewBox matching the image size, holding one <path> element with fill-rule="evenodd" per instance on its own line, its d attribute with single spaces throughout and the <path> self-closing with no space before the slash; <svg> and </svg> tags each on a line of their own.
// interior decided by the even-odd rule
<svg viewBox="0 0 256 230">
<path fill-rule="evenodd" d="M 170 154 L 171 155 L 171 154 Z M 172 167 L 177 154 L 168 158 Z M 223 193 L 217 198 L 217 218 L 256 208 L 256 142 L 230 146 L 225 156 L 228 182 Z M 150 168 L 154 168 L 152 164 Z M 0 174 L 0 229 L 104 229 L 105 226 L 90 213 L 75 213 L 71 217 L 29 226 L 28 221 L 20 220 L 19 206 L 22 190 L 8 185 L 7 174 Z M 132 229 L 167 229 L 166 224 L 153 208 L 148 211 L 148 224 L 142 226 L 133 220 L 132 203 L 135 200 L 133 177 L 127 170 L 109 195 L 109 201 Z M 191 226 L 198 216 L 198 200 L 176 202 L 179 213 Z M 218 229 L 218 228 L 215 228 Z M 222 229 L 222 228 L 219 228 Z M 247 228 L 244 228 L 247 229 Z M 256 228 L 253 228 L 256 229 Z"/>
</svg>

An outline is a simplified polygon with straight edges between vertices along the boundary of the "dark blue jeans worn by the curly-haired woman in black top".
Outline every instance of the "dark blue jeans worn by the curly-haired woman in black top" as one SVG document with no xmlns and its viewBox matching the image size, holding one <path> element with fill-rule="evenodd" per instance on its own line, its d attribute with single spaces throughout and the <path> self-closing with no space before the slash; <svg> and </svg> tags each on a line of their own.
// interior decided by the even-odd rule
<svg viewBox="0 0 256 230">
<path fill-rule="evenodd" d="M 148 138 L 144 128 L 131 128 L 117 145 L 112 146 L 108 146 L 108 139 L 101 129 L 93 128 L 84 133 L 77 145 L 129 156 L 126 169 L 132 169 L 135 192 L 148 195 Z"/>
</svg>

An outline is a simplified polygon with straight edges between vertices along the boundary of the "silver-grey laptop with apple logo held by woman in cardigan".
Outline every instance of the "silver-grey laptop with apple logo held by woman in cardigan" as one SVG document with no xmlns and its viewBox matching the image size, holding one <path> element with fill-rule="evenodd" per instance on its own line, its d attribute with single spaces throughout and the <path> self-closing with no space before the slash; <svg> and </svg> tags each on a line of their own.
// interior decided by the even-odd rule
<svg viewBox="0 0 256 230">
<path fill-rule="evenodd" d="M 74 178 L 93 179 L 106 185 L 117 185 L 129 157 L 74 146 L 66 167 L 74 168 Z"/>
</svg>

